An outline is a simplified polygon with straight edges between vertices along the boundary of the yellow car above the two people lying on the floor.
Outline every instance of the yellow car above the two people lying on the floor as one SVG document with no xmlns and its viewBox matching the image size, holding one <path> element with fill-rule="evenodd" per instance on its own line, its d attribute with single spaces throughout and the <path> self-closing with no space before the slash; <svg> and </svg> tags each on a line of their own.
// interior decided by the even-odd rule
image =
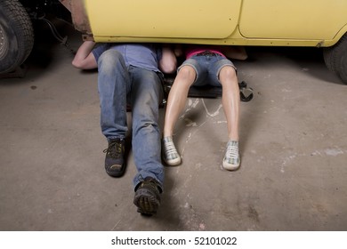
<svg viewBox="0 0 347 249">
<path fill-rule="evenodd" d="M 0 1 L 1 4 L 14 2 L 23 4 L 30 1 Z M 58 0 L 41 2 L 46 4 Z M 323 48 L 327 68 L 333 70 L 343 83 L 347 84 L 346 0 L 59 0 L 59 2 L 71 12 L 75 28 L 84 34 L 85 39 L 116 43 L 319 47 Z M 22 19 L 22 15 L 18 15 Z M 12 15 L 9 21 L 13 22 L 13 17 Z M 12 27 L 2 28 L 0 25 L 0 37 L 3 36 L 4 41 L 6 28 Z M 23 39 L 21 41 L 22 44 L 26 44 Z M 4 45 L 2 46 L 0 62 L 4 62 L 1 60 L 1 53 L 5 53 Z"/>
</svg>

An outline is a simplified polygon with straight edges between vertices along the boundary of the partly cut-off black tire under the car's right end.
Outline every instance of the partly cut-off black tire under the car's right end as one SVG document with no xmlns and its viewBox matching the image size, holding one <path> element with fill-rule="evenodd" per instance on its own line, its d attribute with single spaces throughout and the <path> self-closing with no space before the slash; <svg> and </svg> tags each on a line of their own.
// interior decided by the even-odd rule
<svg viewBox="0 0 347 249">
<path fill-rule="evenodd" d="M 323 54 L 327 68 L 347 84 L 347 34 L 334 46 L 325 48 Z"/>
</svg>

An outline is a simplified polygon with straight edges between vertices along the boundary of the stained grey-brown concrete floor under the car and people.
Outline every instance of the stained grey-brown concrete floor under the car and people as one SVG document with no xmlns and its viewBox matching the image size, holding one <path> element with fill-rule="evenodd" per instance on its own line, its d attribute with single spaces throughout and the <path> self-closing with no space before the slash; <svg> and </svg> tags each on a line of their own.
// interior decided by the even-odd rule
<svg viewBox="0 0 347 249">
<path fill-rule="evenodd" d="M 346 230 L 347 86 L 318 49 L 248 53 L 235 62 L 254 89 L 241 103 L 241 168 L 221 169 L 221 100 L 191 98 L 174 137 L 183 164 L 165 167 L 162 205 L 146 218 L 133 205 L 132 153 L 124 177 L 104 171 L 97 73 L 38 37 L 27 75 L 0 79 L 0 229 Z"/>
</svg>

